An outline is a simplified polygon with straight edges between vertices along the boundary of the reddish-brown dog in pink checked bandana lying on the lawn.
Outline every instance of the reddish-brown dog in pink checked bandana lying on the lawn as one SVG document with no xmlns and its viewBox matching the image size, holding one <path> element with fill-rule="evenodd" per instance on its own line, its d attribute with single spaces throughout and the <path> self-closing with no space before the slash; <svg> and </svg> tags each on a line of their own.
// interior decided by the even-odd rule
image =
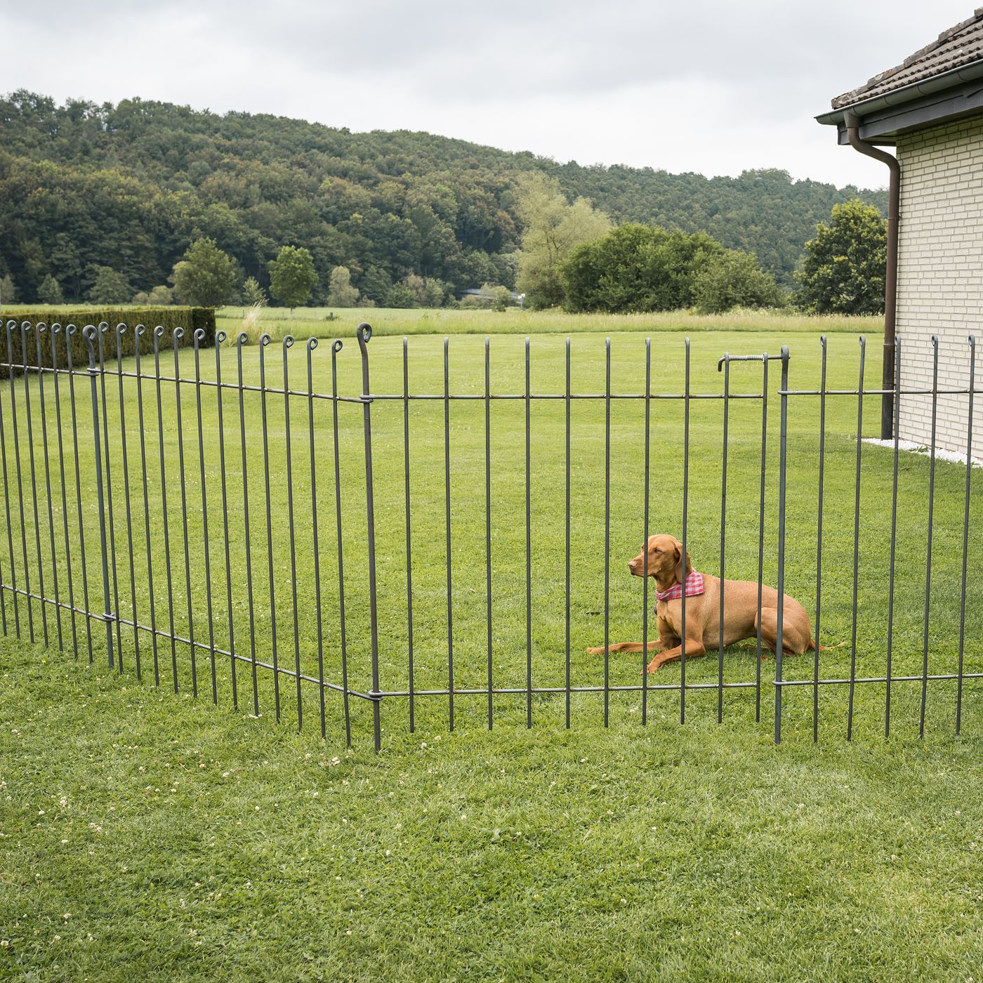
<svg viewBox="0 0 983 983">
<path fill-rule="evenodd" d="M 682 562 L 682 544 L 672 536 L 650 536 L 648 543 L 649 576 L 655 578 L 660 591 L 669 590 L 674 584 L 683 584 L 692 572 L 689 553 L 686 553 L 685 570 Z M 628 564 L 636 577 L 645 576 L 645 555 L 639 553 Z M 779 616 L 779 592 L 774 587 L 761 589 L 761 640 L 773 652 L 776 651 Z M 748 580 L 723 581 L 723 644 L 731 645 L 745 638 L 758 637 L 758 584 Z M 659 638 L 649 642 L 649 649 L 662 649 L 649 663 L 649 671 L 656 672 L 661 665 L 679 659 L 682 655 L 682 601 L 678 598 L 657 601 L 656 615 L 659 622 Z M 686 655 L 706 655 L 708 648 L 716 648 L 721 639 L 721 580 L 704 575 L 704 593 L 686 598 Z M 788 655 L 802 655 L 814 649 L 809 615 L 794 598 L 785 595 L 782 611 L 781 648 Z M 588 649 L 591 655 L 601 655 L 604 647 Z M 641 642 L 615 642 L 608 645 L 608 652 L 641 652 Z"/>
</svg>

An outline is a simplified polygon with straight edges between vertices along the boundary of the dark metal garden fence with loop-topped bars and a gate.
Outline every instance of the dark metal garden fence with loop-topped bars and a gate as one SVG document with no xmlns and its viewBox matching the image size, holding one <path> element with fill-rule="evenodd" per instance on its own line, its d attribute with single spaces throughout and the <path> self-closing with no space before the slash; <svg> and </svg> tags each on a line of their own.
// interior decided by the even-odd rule
<svg viewBox="0 0 983 983">
<path fill-rule="evenodd" d="M 81 334 L 88 364 L 79 366 L 71 344 L 77 330 L 72 324 L 6 324 L 7 361 L 0 363 L 6 376 L 0 386 L 5 634 L 13 630 L 30 642 L 57 644 L 76 659 L 104 659 L 119 672 L 132 667 L 141 678 L 152 674 L 155 685 L 166 683 L 169 674 L 175 693 L 190 688 L 197 697 L 204 689 L 215 703 L 227 697 L 254 716 L 272 710 L 277 721 L 295 720 L 298 728 L 313 707 L 321 735 L 343 732 L 349 744 L 353 729 L 357 732 L 365 720 L 376 749 L 386 723 L 383 708 L 388 712 L 394 704 L 399 710 L 393 710 L 390 723 L 405 723 L 410 730 L 420 726 L 421 707 L 434 703 L 445 705 L 453 729 L 462 701 L 469 719 L 480 718 L 489 727 L 502 714 L 517 713 L 517 707 L 532 726 L 534 708 L 552 717 L 559 706 L 567 726 L 572 718 L 595 712 L 607 726 L 615 709 L 619 719 L 637 713 L 634 719 L 642 724 L 656 713 L 684 722 L 693 700 L 708 696 L 716 697 L 716 719 L 723 722 L 725 709 L 732 700 L 743 700 L 742 694 L 750 702 L 733 702 L 733 712 L 753 712 L 761 720 L 770 701 L 780 741 L 789 714 L 785 691 L 803 688 L 811 704 L 797 704 L 791 719 L 803 729 L 811 726 L 813 739 L 823 720 L 821 704 L 829 706 L 828 713 L 844 713 L 846 736 L 852 737 L 857 694 L 874 688 L 883 688 L 884 732 L 890 734 L 899 684 L 905 684 L 905 693 L 907 687 L 915 690 L 911 712 L 920 734 L 934 708 L 930 694 L 933 699 L 938 694 L 939 714 L 954 714 L 958 733 L 971 684 L 983 677 L 983 624 L 976 607 L 967 616 L 966 603 L 976 529 L 970 507 L 972 338 L 965 388 L 940 388 L 939 345 L 933 339 L 932 387 L 902 389 L 901 343 L 896 343 L 895 434 L 906 397 L 928 397 L 931 405 L 925 489 L 921 464 L 911 465 L 906 457 L 902 462 L 897 436 L 890 459 L 884 450 L 865 452 L 864 400 L 880 399 L 886 390 L 865 387 L 863 338 L 855 386 L 828 386 L 824 337 L 815 387 L 790 388 L 789 350 L 782 347 L 779 355 L 724 354 L 717 365 L 720 391 L 692 385 L 686 339 L 682 364 L 670 374 L 675 384 L 665 392 L 653 391 L 648 339 L 631 365 L 643 384 L 630 391 L 612 389 L 609 340 L 603 386 L 575 391 L 569 339 L 562 358 L 551 363 L 552 384 L 546 390 L 532 386 L 534 363 L 526 339 L 523 384 L 492 391 L 487 338 L 484 359 L 469 368 L 464 388 L 472 391 L 452 391 L 448 339 L 443 339 L 442 363 L 434 359 L 435 351 L 421 363 L 419 375 L 438 382 L 435 391 L 416 391 L 410 385 L 410 345 L 403 338 L 401 358 L 391 350 L 376 357 L 385 359 L 388 376 L 398 379 L 401 372 L 402 389 L 380 392 L 370 376 L 372 330 L 363 324 L 357 364 L 342 360 L 341 366 L 349 388 L 360 369 L 361 386 L 346 392 L 339 387 L 341 340 L 329 346 L 329 386 L 316 386 L 316 376 L 326 374 L 328 366 L 316 356 L 318 339 L 307 341 L 304 384 L 296 387 L 291 368 L 298 372 L 302 346 L 291 353 L 290 336 L 281 342 L 274 368 L 267 359 L 272 344 L 267 335 L 248 346 L 246 334 L 240 334 L 230 347 L 218 332 L 214 351 L 206 354 L 201 331 L 194 333 L 189 351 L 180 328 L 165 338 L 162 328 L 87 325 Z M 127 332 L 135 335 L 128 339 L 134 342 L 132 357 L 123 354 Z M 15 359 L 15 350 L 23 361 Z M 182 350 L 185 368 L 192 357 L 193 374 L 182 373 Z M 771 393 L 780 400 L 777 476 L 769 466 L 776 439 L 771 434 L 770 440 L 775 421 L 769 419 L 773 362 L 781 378 Z M 749 365 L 757 367 L 750 376 Z M 939 492 L 934 434 L 941 396 L 965 400 L 966 462 L 964 468 L 945 465 L 945 488 Z M 832 407 L 841 415 L 853 401 L 855 440 L 846 441 L 839 432 L 829 435 Z M 521 414 L 499 412 L 506 404 L 521 407 Z M 575 419 L 578 407 L 588 404 L 594 407 L 590 416 Z M 619 414 L 625 404 L 633 407 L 631 415 L 618 418 L 612 435 L 612 411 Z M 442 412 L 428 416 L 427 405 Z M 719 416 L 709 417 L 708 407 L 717 408 L 713 412 Z M 694 413 L 709 421 L 699 434 Z M 663 419 L 667 414 L 671 419 Z M 492 426 L 495 415 L 500 419 Z M 803 435 L 801 427 L 790 433 L 790 418 L 802 427 L 815 425 L 815 434 Z M 460 465 L 456 427 L 470 441 Z M 591 442 L 584 442 L 588 431 Z M 881 455 L 870 473 L 865 453 Z M 617 458 L 613 483 L 612 455 Z M 514 458 L 504 477 L 493 467 L 498 457 Z M 862 492 L 868 485 L 873 486 L 870 514 L 878 516 L 873 534 L 878 549 L 870 555 L 861 548 L 862 519 L 866 523 L 868 514 Z M 544 486 L 549 500 L 541 495 Z M 614 514 L 612 489 L 620 495 L 626 487 L 635 497 L 619 498 Z M 719 510 L 716 504 L 709 507 L 718 494 Z M 940 494 L 945 496 L 941 521 L 934 512 Z M 537 498 L 534 507 L 536 495 L 543 501 Z M 422 508 L 414 507 L 415 496 L 423 497 Z M 497 499 L 502 512 L 493 518 Z M 922 506 L 924 528 L 912 527 Z M 541 516 L 547 517 L 542 535 Z M 457 536 L 468 540 L 464 558 L 455 554 L 455 526 Z M 774 550 L 768 546 L 773 530 Z M 754 574 L 759 628 L 751 640 L 753 673 L 739 653 L 725 656 L 723 632 L 716 665 L 710 658 L 687 660 L 685 596 L 678 677 L 661 681 L 646 673 L 652 633 L 648 578 L 634 600 L 628 595 L 637 583 L 622 590 L 617 582 L 612 597 L 611 564 L 627 558 L 621 544 L 637 549 L 654 532 L 677 532 L 684 550 L 716 541 L 722 576 L 732 570 Z M 936 549 L 942 572 L 933 582 L 933 540 L 940 536 L 947 549 L 942 560 Z M 922 538 L 924 552 L 915 562 L 908 543 Z M 957 554 L 948 549 L 954 540 Z M 814 577 L 807 576 L 804 557 L 809 569 L 814 558 Z M 696 565 L 705 568 L 709 559 L 705 552 Z M 832 584 L 831 562 L 837 564 Z M 794 592 L 804 592 L 807 609 L 814 610 L 816 640 L 831 642 L 847 633 L 848 640 L 842 638 L 834 656 L 817 646 L 811 660 L 792 662 L 781 644 L 780 606 L 774 676 L 766 680 L 761 584 L 774 574 L 781 597 L 790 573 Z M 543 576 L 549 585 L 540 590 Z M 896 603 L 899 592 L 903 605 Z M 723 604 L 722 596 L 722 612 Z M 933 606 L 944 624 L 935 635 Z M 612 658 L 612 616 L 618 624 L 631 618 L 640 627 L 640 665 Z M 600 639 L 586 637 L 594 630 Z M 622 631 L 627 629 L 619 627 Z M 584 647 L 600 642 L 603 660 L 584 660 Z M 731 662 L 735 670 L 725 673 Z M 790 665 L 794 671 L 788 671 Z M 866 670 L 871 665 L 877 669 Z M 839 671 L 825 674 L 827 667 Z M 946 688 L 950 684 L 954 692 Z M 821 699 L 828 690 L 844 692 L 845 707 Z M 597 711 L 590 701 L 598 701 Z M 873 707 L 873 699 L 864 704 L 865 720 Z M 371 724 L 363 709 L 371 713 Z"/>
</svg>

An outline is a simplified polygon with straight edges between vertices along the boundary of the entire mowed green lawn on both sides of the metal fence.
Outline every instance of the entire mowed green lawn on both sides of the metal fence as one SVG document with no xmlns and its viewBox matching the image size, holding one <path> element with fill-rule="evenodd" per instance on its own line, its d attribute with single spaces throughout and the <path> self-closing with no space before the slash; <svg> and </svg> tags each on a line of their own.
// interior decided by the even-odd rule
<svg viewBox="0 0 983 983">
<path fill-rule="evenodd" d="M 398 334 L 403 332 L 395 333 L 375 337 L 369 344 L 376 395 L 402 392 Z M 298 334 L 303 336 L 302 331 Z M 612 331 L 610 337 L 612 391 L 641 392 L 644 335 Z M 694 332 L 693 391 L 721 391 L 717 360 L 724 351 L 775 353 L 785 341 L 791 346 L 791 384 L 817 384 L 818 339 L 807 333 L 789 337 L 787 331 L 769 325 L 757 332 Z M 877 351 L 874 338 L 871 348 Z M 285 356 L 282 351 L 279 345 L 244 348 L 244 382 L 259 384 L 262 357 L 267 385 L 282 385 L 286 358 L 290 388 L 305 390 L 305 346 L 298 343 Z M 442 357 L 439 336 L 410 340 L 413 392 L 442 392 Z M 240 371 L 237 351 L 225 347 L 217 358 L 223 379 L 235 379 Z M 521 393 L 523 338 L 493 335 L 491 358 L 492 391 Z M 561 392 L 563 338 L 549 332 L 533 335 L 531 358 L 532 391 Z M 204 353 L 202 377 L 215 377 L 215 359 L 216 353 Z M 854 337 L 831 336 L 831 387 L 855 385 L 857 359 Z M 182 373 L 191 375 L 191 355 L 183 351 L 181 360 Z M 452 337 L 449 360 L 452 392 L 484 391 L 481 337 Z M 868 384 L 876 382 L 876 363 L 876 357 L 868 359 Z M 162 371 L 169 372 L 172 366 L 171 354 Z M 132 371 L 133 360 L 125 368 Z M 145 363 L 145 371 L 148 368 Z M 311 354 L 311 371 L 315 390 L 330 391 L 328 345 L 322 343 Z M 679 392 L 682 372 L 682 335 L 653 332 L 652 391 Z M 775 364 L 771 372 L 764 541 L 765 579 L 774 583 L 779 423 Z M 337 375 L 339 392 L 360 391 L 358 346 L 347 331 L 337 354 Z M 575 392 L 604 391 L 604 335 L 573 336 L 571 376 Z M 733 367 L 732 392 L 760 392 L 760 384 L 760 365 Z M 23 584 L 26 550 L 29 586 L 36 591 L 34 556 L 39 549 L 47 573 L 45 590 L 50 594 L 53 539 L 64 597 L 69 564 L 61 535 L 55 401 L 48 384 L 51 468 L 45 476 L 34 379 L 28 381 L 28 394 L 24 380 L 15 380 L 21 470 L 28 482 L 25 421 L 30 402 L 34 467 L 38 488 L 43 489 L 46 477 L 51 481 L 55 536 L 49 533 L 43 494 L 36 526 L 29 492 L 23 500 L 23 525 L 21 502 L 12 498 L 8 504 L 14 565 Z M 13 482 L 12 403 L 6 384 L 0 395 Z M 255 646 L 257 658 L 270 661 L 275 646 L 279 665 L 299 664 L 302 671 L 317 676 L 319 628 L 325 680 L 339 683 L 331 404 L 314 401 L 317 489 L 313 492 L 308 402 L 303 396 L 290 397 L 288 443 L 284 397 L 267 396 L 267 497 L 260 393 L 243 394 L 241 431 L 238 395 L 225 392 L 223 441 L 217 428 L 215 390 L 202 387 L 205 513 L 195 390 L 183 387 L 181 398 L 179 429 L 174 383 L 162 384 L 163 427 L 158 428 L 156 392 L 152 383 L 145 382 L 141 426 L 135 380 L 125 380 L 121 401 L 116 379 L 107 379 L 119 609 L 131 617 L 136 608 L 137 620 L 148 623 L 149 595 L 142 585 L 149 563 L 158 628 L 169 631 L 173 617 L 174 633 L 186 637 L 192 627 L 190 596 L 196 638 L 206 640 L 210 600 L 214 644 L 229 646 L 220 470 L 224 451 L 235 651 L 248 660 Z M 94 546 L 98 532 L 88 399 L 87 378 L 80 377 L 76 409 L 87 586 L 89 607 L 98 609 L 101 575 Z M 866 400 L 865 434 L 876 431 L 878 403 L 877 397 Z M 64 380 L 60 408 L 68 455 L 66 517 L 78 605 L 82 564 L 75 535 L 72 406 Z M 121 476 L 121 409 L 128 436 L 135 598 L 130 593 L 131 540 Z M 852 629 L 856 411 L 855 398 L 829 400 L 821 629 L 826 645 L 848 641 Z M 533 682 L 562 687 L 564 405 L 561 400 L 537 401 L 530 412 Z M 709 573 L 719 569 L 722 412 L 717 400 L 691 403 L 689 545 L 697 569 Z M 413 682 L 418 691 L 442 689 L 448 681 L 443 413 L 440 400 L 413 402 L 409 409 Z M 761 404 L 734 400 L 729 413 L 725 572 L 753 579 L 759 542 Z M 371 676 L 362 416 L 357 404 L 338 405 L 348 677 L 353 688 L 364 691 Z M 604 662 L 584 650 L 603 641 L 604 402 L 574 401 L 571 417 L 571 683 L 598 686 L 604 680 Z M 454 684 L 481 690 L 487 684 L 488 657 L 484 403 L 454 402 L 449 418 Z M 653 401 L 653 531 L 680 531 L 682 419 L 681 402 Z M 491 424 L 492 677 L 496 686 L 521 690 L 527 665 L 523 400 L 494 401 Z M 608 604 L 611 640 L 617 641 L 641 637 L 641 584 L 628 575 L 624 564 L 637 551 L 643 534 L 644 404 L 613 400 L 610 427 Z M 402 403 L 376 399 L 378 631 L 384 690 L 405 689 L 410 683 L 403 428 Z M 817 401 L 793 397 L 788 428 L 786 589 L 814 611 Z M 135 484 L 143 467 L 141 435 L 149 490 L 146 511 Z M 243 494 L 241 440 L 248 496 Z M 186 470 L 184 509 L 181 446 Z M 890 451 L 864 448 L 857 617 L 857 671 L 862 676 L 882 674 L 886 665 L 891 471 Z M 899 472 L 894 669 L 917 675 L 922 665 L 928 461 L 902 456 Z M 964 474 L 956 465 L 937 466 L 931 672 L 953 671 L 957 656 Z M 168 498 L 166 524 L 162 478 Z M 296 577 L 288 488 L 293 493 Z M 978 484 L 974 484 L 971 557 L 983 548 L 979 502 Z M 210 578 L 205 577 L 204 567 L 205 514 Z M 6 512 L 0 515 L 6 519 Z M 26 546 L 22 549 L 22 545 Z M 165 575 L 167 549 L 170 581 Z M 10 552 L 5 529 L 0 535 L 0 557 L 8 583 Z M 976 595 L 973 576 L 966 620 L 965 670 L 970 672 L 983 668 L 983 607 Z M 14 612 L 7 592 L 5 605 L 10 633 Z M 18 613 L 22 635 L 27 636 L 28 606 L 23 599 Z M 39 639 L 44 618 L 36 603 L 31 618 Z M 446 696 L 417 697 L 415 733 L 409 730 L 408 701 L 386 698 L 381 707 L 383 753 L 376 757 L 371 750 L 372 712 L 366 701 L 351 701 L 354 750 L 346 752 L 343 701 L 334 691 L 325 694 L 327 739 L 321 742 L 316 684 L 302 686 L 304 730 L 298 735 L 298 694 L 288 676 L 281 674 L 274 689 L 271 674 L 260 670 L 254 690 L 251 666 L 238 664 L 239 708 L 252 714 L 258 706 L 262 718 L 250 722 L 229 713 L 232 678 L 227 659 L 215 661 L 216 708 L 210 704 L 206 650 L 198 650 L 193 673 L 186 645 L 172 650 L 166 639 L 158 638 L 154 646 L 145 631 L 135 635 L 123 628 L 119 637 L 124 672 L 117 675 L 99 668 L 105 659 L 99 621 L 63 613 L 63 643 L 69 647 L 73 630 L 79 639 L 81 656 L 76 664 L 68 653 L 57 653 L 58 624 L 50 609 L 46 620 L 52 642 L 46 653 L 13 641 L 0 646 L 0 767 L 4 770 L 0 779 L 5 783 L 0 788 L 4 833 L 0 851 L 5 851 L 0 869 L 7 889 L 0 891 L 0 925 L 11 942 L 0 958 L 12 959 L 8 964 L 15 972 L 68 978 L 107 978 L 136 971 L 147 976 L 217 973 L 282 978 L 455 974 L 642 978 L 660 972 L 684 978 L 831 979 L 912 974 L 968 979 L 974 973 L 970 954 L 979 948 L 981 931 L 975 850 L 981 820 L 977 785 L 983 729 L 983 701 L 976 680 L 966 683 L 964 736 L 959 740 L 952 736 L 954 684 L 940 681 L 929 686 L 928 739 L 923 743 L 913 739 L 919 722 L 917 682 L 894 686 L 895 736 L 890 741 L 881 736 L 884 685 L 859 685 L 851 745 L 842 740 L 845 687 L 821 688 L 818 746 L 811 740 L 811 687 L 789 688 L 785 741 L 776 748 L 767 723 L 773 707 L 769 680 L 774 664 L 769 661 L 762 668 L 765 723 L 755 723 L 753 687 L 728 689 L 720 727 L 714 688 L 717 658 L 712 655 L 687 663 L 687 682 L 709 688 L 687 691 L 684 727 L 678 726 L 680 668 L 671 665 L 649 680 L 662 688 L 648 693 L 646 729 L 641 726 L 643 705 L 637 691 L 610 694 L 608 730 L 601 725 L 604 698 L 599 693 L 573 694 L 569 731 L 563 726 L 562 695 L 536 696 L 528 706 L 524 693 L 496 697 L 491 732 L 485 696 L 458 696 L 454 734 L 448 732 Z M 135 677 L 138 641 L 144 685 Z M 849 664 L 848 645 L 821 653 L 824 676 L 842 677 L 848 674 Z M 753 647 L 738 645 L 724 654 L 728 682 L 753 683 L 756 669 Z M 612 656 L 609 673 L 612 685 L 639 684 L 641 661 Z M 786 660 L 785 674 L 811 678 L 811 657 Z M 146 685 L 155 675 L 159 689 Z M 200 694 L 197 702 L 190 699 L 193 684 Z M 174 695 L 168 689 L 179 692 Z M 277 701 L 283 724 L 279 727 L 271 720 Z M 534 726 L 527 731 L 530 709 Z M 452 960 L 458 961 L 452 964 Z"/>
</svg>

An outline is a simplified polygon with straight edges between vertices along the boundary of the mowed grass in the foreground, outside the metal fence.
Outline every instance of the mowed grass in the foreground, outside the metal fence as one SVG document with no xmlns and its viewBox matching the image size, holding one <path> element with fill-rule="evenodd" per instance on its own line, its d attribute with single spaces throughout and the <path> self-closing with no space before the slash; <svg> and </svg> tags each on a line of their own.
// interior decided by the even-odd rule
<svg viewBox="0 0 983 983">
<path fill-rule="evenodd" d="M 978 731 L 375 755 L 10 641 L 0 687 L 6 978 L 978 979 Z"/>
</svg>

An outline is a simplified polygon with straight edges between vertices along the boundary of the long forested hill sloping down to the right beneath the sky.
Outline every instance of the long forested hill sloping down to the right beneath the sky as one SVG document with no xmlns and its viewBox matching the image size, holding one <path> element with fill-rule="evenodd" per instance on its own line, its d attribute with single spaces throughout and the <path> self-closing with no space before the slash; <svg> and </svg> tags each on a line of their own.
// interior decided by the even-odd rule
<svg viewBox="0 0 983 983">
<path fill-rule="evenodd" d="M 511 285 L 514 180 L 531 170 L 616 222 L 703 230 L 750 250 L 784 283 L 816 223 L 858 194 L 778 170 L 708 179 L 585 167 L 425 133 L 350 133 L 140 99 L 59 106 L 19 91 L 0 99 L 0 276 L 11 274 L 26 302 L 47 274 L 66 299 L 85 296 L 96 266 L 149 290 L 193 239 L 210 236 L 263 284 L 280 246 L 307 247 L 321 297 L 338 264 L 372 298 L 411 272 L 458 289 Z M 886 204 L 883 192 L 859 197 Z"/>
</svg>

